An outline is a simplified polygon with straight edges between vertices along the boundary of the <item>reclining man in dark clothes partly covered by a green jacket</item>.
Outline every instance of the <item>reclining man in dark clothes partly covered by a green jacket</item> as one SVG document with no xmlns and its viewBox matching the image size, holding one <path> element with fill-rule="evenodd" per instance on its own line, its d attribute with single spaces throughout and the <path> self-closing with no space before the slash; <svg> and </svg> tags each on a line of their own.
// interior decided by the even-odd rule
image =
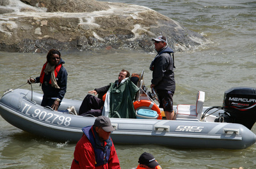
<svg viewBox="0 0 256 169">
<path fill-rule="evenodd" d="M 132 83 L 131 78 L 129 71 L 121 70 L 114 83 L 89 91 L 90 94 L 79 108 L 79 115 L 136 118 L 132 101 L 139 88 Z M 91 94 L 99 96 L 97 98 Z M 105 99 L 101 98 L 103 95 Z"/>
</svg>

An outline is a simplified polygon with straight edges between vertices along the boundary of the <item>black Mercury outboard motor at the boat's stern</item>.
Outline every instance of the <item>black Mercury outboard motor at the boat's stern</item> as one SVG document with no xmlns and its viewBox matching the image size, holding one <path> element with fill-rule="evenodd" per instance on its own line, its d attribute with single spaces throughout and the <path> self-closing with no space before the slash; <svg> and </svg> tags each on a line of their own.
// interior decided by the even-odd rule
<svg viewBox="0 0 256 169">
<path fill-rule="evenodd" d="M 256 122 L 256 88 L 232 87 L 225 91 L 223 110 L 229 122 L 243 124 L 252 129 Z"/>
</svg>

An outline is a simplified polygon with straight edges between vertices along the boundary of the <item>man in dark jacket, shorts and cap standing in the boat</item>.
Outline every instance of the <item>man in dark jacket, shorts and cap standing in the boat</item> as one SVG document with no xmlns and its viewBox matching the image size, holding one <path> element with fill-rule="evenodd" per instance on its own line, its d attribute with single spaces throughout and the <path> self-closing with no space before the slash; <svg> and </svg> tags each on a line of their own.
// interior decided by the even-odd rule
<svg viewBox="0 0 256 169">
<path fill-rule="evenodd" d="M 159 107 L 163 108 L 166 119 L 173 120 L 173 94 L 175 92 L 173 50 L 168 47 L 165 36 L 152 39 L 157 51 L 150 64 L 152 72 L 151 89 L 156 89 Z"/>
</svg>

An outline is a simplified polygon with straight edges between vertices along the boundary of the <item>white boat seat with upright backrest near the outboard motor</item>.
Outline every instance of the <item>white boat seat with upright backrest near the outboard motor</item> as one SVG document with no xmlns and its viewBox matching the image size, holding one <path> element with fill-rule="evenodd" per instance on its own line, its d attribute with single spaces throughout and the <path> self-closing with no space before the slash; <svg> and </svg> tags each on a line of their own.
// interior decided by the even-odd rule
<svg viewBox="0 0 256 169">
<path fill-rule="evenodd" d="M 205 92 L 198 91 L 196 105 L 177 105 L 175 110 L 177 120 L 179 119 L 198 119 L 200 121 L 204 107 Z"/>
</svg>

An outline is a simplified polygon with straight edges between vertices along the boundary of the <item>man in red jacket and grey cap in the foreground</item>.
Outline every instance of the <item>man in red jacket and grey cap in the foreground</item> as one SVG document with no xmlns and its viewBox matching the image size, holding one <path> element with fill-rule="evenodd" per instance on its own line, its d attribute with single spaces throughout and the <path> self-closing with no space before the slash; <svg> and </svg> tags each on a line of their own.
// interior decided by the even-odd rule
<svg viewBox="0 0 256 169">
<path fill-rule="evenodd" d="M 115 129 L 108 117 L 99 116 L 93 126 L 83 129 L 83 136 L 77 142 L 71 169 L 118 169 L 120 163 L 115 146 L 110 138 L 111 131 Z"/>
</svg>

